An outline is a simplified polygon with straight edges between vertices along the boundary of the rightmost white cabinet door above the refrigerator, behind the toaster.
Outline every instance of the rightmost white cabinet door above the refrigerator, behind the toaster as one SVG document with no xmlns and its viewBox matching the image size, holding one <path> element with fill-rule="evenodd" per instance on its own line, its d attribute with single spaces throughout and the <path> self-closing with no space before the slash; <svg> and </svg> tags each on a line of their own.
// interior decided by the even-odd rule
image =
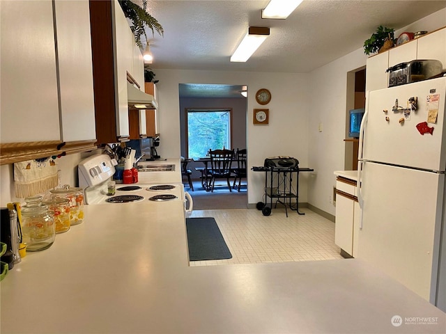
<svg viewBox="0 0 446 334">
<path fill-rule="evenodd" d="M 436 59 L 446 69 L 446 28 L 418 38 L 417 59 Z"/>
</svg>

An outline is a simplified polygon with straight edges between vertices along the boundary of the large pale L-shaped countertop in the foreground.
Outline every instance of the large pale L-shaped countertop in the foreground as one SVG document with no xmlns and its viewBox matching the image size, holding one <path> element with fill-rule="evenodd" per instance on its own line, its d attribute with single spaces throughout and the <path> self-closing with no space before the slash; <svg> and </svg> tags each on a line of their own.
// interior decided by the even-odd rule
<svg viewBox="0 0 446 334">
<path fill-rule="evenodd" d="M 1 282 L 1 333 L 445 332 L 445 313 L 360 260 L 189 267 L 183 205 L 160 204 L 87 205 Z"/>
</svg>

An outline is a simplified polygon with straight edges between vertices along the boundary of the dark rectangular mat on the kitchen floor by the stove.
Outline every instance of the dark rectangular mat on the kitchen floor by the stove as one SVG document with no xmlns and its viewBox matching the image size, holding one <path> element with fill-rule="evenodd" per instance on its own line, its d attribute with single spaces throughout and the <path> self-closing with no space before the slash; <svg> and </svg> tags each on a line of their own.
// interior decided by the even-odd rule
<svg viewBox="0 0 446 334">
<path fill-rule="evenodd" d="M 231 259 L 214 218 L 186 218 L 190 261 Z"/>
</svg>

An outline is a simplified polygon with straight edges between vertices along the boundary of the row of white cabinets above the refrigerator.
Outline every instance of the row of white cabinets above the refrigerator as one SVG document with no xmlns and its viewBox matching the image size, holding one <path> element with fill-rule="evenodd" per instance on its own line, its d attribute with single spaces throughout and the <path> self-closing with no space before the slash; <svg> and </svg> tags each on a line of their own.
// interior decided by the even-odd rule
<svg viewBox="0 0 446 334">
<path fill-rule="evenodd" d="M 394 47 L 367 59 L 366 90 L 387 88 L 387 68 L 415 59 L 436 59 L 446 69 L 446 28 Z"/>
</svg>

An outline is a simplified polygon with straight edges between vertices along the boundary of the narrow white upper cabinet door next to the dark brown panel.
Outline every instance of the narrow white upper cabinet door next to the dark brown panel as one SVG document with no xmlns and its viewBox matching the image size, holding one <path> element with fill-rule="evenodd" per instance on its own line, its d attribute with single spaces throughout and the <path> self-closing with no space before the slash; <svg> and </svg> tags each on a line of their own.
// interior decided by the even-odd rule
<svg viewBox="0 0 446 334">
<path fill-rule="evenodd" d="M 62 140 L 96 138 L 89 1 L 55 1 Z"/>
</svg>

